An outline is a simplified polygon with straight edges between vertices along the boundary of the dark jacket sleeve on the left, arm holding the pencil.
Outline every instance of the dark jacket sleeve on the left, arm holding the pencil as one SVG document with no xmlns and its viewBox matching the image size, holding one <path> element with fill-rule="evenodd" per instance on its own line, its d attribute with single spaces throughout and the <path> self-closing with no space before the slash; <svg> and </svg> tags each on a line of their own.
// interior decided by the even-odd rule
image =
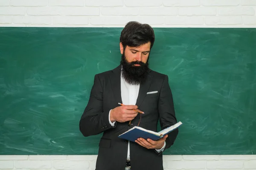
<svg viewBox="0 0 256 170">
<path fill-rule="evenodd" d="M 96 74 L 88 104 L 79 122 L 81 133 L 84 136 L 91 136 L 113 128 L 109 123 L 109 112 L 103 111 L 103 88 L 99 76 Z"/>
</svg>

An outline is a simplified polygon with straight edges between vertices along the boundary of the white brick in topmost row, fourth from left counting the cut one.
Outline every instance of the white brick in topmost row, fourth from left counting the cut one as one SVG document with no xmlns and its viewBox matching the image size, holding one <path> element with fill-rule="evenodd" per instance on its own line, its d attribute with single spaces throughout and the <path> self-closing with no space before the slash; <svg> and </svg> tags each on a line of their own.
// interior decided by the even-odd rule
<svg viewBox="0 0 256 170">
<path fill-rule="evenodd" d="M 123 0 L 85 0 L 85 6 L 124 6 Z"/>
</svg>

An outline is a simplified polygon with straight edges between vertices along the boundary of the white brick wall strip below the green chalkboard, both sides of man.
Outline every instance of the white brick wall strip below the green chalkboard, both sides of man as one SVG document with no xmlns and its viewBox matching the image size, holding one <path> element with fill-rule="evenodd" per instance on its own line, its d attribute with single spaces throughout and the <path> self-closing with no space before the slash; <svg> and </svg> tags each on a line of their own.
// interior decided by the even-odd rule
<svg viewBox="0 0 256 170">
<path fill-rule="evenodd" d="M 96 155 L 0 156 L 0 170 L 94 170 Z M 164 170 L 256 170 L 256 155 L 164 155 Z"/>
</svg>

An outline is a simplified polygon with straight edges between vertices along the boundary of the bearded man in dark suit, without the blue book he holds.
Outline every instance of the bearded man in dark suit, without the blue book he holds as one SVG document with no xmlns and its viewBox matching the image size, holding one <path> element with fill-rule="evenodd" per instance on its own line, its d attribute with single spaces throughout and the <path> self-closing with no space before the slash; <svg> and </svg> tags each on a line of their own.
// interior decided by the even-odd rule
<svg viewBox="0 0 256 170">
<path fill-rule="evenodd" d="M 148 67 L 154 40 L 148 24 L 127 23 L 120 35 L 120 65 L 94 77 L 79 129 L 84 136 L 103 133 L 96 170 L 163 170 L 163 152 L 174 144 L 178 129 L 157 141 L 118 138 L 138 124 L 157 132 L 158 121 L 162 130 L 177 123 L 168 76 Z"/>
</svg>

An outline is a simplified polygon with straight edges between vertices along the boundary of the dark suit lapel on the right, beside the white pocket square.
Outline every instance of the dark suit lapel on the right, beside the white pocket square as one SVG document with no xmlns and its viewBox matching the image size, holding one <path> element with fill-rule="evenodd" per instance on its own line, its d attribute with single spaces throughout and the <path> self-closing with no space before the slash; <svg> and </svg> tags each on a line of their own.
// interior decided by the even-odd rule
<svg viewBox="0 0 256 170">
<path fill-rule="evenodd" d="M 138 108 L 140 107 L 141 103 L 143 102 L 143 99 L 145 98 L 145 96 L 147 95 L 148 88 L 150 87 L 151 81 L 152 81 L 152 76 L 150 76 L 148 73 L 148 77 L 147 77 L 145 83 L 140 85 L 140 90 L 139 90 L 139 94 L 138 94 L 138 98 L 137 98 L 137 102 L 136 102 L 136 105 L 138 106 Z"/>
</svg>

